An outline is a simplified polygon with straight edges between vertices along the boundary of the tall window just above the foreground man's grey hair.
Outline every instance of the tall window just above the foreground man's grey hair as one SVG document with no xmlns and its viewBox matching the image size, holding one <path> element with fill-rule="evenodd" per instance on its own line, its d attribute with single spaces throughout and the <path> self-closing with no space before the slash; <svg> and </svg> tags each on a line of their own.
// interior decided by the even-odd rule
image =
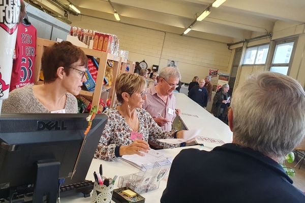
<svg viewBox="0 0 305 203">
<path fill-rule="evenodd" d="M 294 41 L 278 42 L 273 55 L 270 71 L 275 73 L 288 74 Z"/>
</svg>

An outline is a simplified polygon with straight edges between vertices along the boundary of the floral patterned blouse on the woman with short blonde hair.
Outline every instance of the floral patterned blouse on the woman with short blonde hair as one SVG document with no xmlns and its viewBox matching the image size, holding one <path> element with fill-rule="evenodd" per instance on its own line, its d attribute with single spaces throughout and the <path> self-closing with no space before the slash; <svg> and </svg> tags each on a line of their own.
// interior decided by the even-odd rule
<svg viewBox="0 0 305 203">
<path fill-rule="evenodd" d="M 143 134 L 143 141 L 154 146 L 158 143 L 160 147 L 176 147 L 176 145 L 166 143 L 160 144 L 157 141 L 157 139 L 173 138 L 176 130 L 164 131 L 147 111 L 144 109 L 136 109 L 136 111 L 139 119 L 138 132 Z M 115 160 L 119 158 L 115 155 L 115 148 L 118 149 L 118 146 L 127 146 L 133 143 L 133 140 L 130 139 L 132 129 L 116 107 L 108 109 L 105 114 L 108 116 L 108 120 L 94 157 Z"/>
</svg>

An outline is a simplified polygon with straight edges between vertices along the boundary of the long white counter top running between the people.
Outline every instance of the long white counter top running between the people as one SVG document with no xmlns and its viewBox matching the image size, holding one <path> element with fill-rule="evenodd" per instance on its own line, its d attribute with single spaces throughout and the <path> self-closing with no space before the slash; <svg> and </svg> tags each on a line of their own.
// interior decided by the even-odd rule
<svg viewBox="0 0 305 203">
<path fill-rule="evenodd" d="M 229 127 L 218 118 L 212 116 L 209 112 L 199 106 L 195 101 L 182 93 L 175 93 L 177 100 L 176 108 L 181 110 L 180 119 L 187 126 L 188 129 L 201 129 L 201 136 L 223 140 L 225 143 L 232 142 L 232 132 Z M 192 115 L 196 115 L 194 117 Z M 211 148 L 202 146 L 180 147 L 175 149 L 163 149 L 160 152 L 164 153 L 167 157 L 175 157 L 182 149 L 197 148 L 200 150 L 210 151 Z M 116 174 L 125 176 L 139 172 L 138 168 L 131 164 L 118 159 L 116 161 L 105 161 L 100 159 L 93 159 L 87 177 L 87 180 L 94 181 L 94 171 L 99 171 L 100 164 L 103 164 L 103 176 L 113 178 Z M 162 193 L 166 187 L 166 180 L 160 182 L 159 189 L 141 194 L 145 198 L 146 203 L 160 202 Z M 115 188 L 117 188 L 118 179 Z M 83 198 L 82 194 L 78 196 L 62 197 L 62 202 L 90 202 L 90 197 Z M 112 201 L 111 201 L 112 202 Z"/>
</svg>

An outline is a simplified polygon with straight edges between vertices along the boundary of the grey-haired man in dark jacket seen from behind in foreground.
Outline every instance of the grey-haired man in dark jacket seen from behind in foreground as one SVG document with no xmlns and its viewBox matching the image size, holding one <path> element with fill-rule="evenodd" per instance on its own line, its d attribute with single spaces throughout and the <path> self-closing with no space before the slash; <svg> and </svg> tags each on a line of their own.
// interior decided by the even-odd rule
<svg viewBox="0 0 305 203">
<path fill-rule="evenodd" d="M 232 143 L 209 152 L 182 150 L 161 202 L 305 202 L 279 164 L 304 139 L 301 85 L 278 73 L 251 76 L 235 90 L 228 119 Z M 181 177 L 188 177 L 185 187 Z"/>
</svg>

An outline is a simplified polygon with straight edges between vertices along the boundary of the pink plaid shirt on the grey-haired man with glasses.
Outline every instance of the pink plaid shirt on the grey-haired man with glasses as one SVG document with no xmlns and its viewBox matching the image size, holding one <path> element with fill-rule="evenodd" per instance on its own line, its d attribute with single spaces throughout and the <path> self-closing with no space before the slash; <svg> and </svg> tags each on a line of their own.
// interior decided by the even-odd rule
<svg viewBox="0 0 305 203">
<path fill-rule="evenodd" d="M 167 122 L 161 128 L 165 131 L 170 131 L 172 129 L 172 122 L 176 117 L 175 106 L 176 98 L 173 94 L 168 95 L 166 103 L 158 95 L 156 87 L 153 85 L 147 90 L 147 99 L 144 101 L 143 109 L 145 109 L 153 118 L 162 116 L 170 122 Z M 169 110 L 170 109 L 170 110 Z M 170 114 L 169 112 L 172 112 Z"/>
</svg>

